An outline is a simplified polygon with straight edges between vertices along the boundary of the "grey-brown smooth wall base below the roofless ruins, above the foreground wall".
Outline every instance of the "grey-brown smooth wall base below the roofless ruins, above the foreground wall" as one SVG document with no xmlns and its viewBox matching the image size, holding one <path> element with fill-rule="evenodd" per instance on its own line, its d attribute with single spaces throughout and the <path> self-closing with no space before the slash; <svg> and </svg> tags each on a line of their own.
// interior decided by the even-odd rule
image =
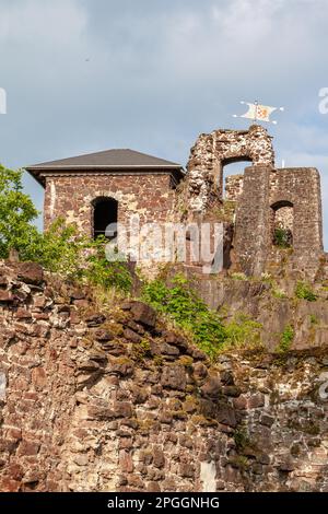
<svg viewBox="0 0 328 514">
<path fill-rule="evenodd" d="M 316 301 L 297 299 L 296 281 L 289 278 L 283 268 L 277 279 L 249 280 L 232 277 L 209 277 L 186 269 L 186 276 L 200 297 L 213 311 L 224 313 L 225 320 L 246 316 L 260 324 L 260 339 L 263 347 L 274 352 L 288 326 L 294 336 L 291 350 L 325 349 L 328 344 L 328 292 L 327 282 L 312 285 Z"/>
</svg>

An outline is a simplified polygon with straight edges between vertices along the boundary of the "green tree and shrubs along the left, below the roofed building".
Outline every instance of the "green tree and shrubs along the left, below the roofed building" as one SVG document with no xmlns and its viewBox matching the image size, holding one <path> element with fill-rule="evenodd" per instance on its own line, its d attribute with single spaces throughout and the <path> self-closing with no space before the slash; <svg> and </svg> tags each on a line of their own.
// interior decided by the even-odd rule
<svg viewBox="0 0 328 514">
<path fill-rule="evenodd" d="M 0 165 L 0 258 L 8 258 L 14 249 L 21 260 L 39 262 L 65 278 L 130 291 L 130 272 L 124 262 L 107 260 L 105 237 L 90 240 L 63 219 L 40 233 L 33 225 L 38 212 L 22 189 L 22 171 Z"/>
</svg>

